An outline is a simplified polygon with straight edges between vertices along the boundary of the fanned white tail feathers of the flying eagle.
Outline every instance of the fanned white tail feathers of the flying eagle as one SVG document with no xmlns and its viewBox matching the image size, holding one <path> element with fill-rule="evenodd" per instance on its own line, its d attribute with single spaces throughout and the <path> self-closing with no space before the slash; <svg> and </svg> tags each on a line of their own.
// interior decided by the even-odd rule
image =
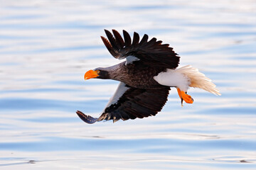
<svg viewBox="0 0 256 170">
<path fill-rule="evenodd" d="M 205 74 L 198 72 L 198 69 L 191 67 L 191 65 L 178 68 L 175 70 L 175 72 L 185 74 L 191 81 L 189 86 L 209 91 L 215 95 L 221 95 L 220 91 L 216 89 L 216 85 L 213 84 L 211 79 L 206 77 Z"/>
</svg>

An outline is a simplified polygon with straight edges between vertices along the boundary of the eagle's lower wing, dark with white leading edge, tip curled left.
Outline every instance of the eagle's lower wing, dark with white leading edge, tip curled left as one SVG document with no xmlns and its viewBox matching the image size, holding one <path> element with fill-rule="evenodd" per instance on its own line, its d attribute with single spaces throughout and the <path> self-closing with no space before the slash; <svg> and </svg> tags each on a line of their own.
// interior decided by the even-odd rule
<svg viewBox="0 0 256 170">
<path fill-rule="evenodd" d="M 145 118 L 156 115 L 167 101 L 169 87 L 163 89 L 137 89 L 120 83 L 114 96 L 110 98 L 105 111 L 100 118 L 92 118 L 90 115 L 77 111 L 78 116 L 85 123 L 95 123 L 101 120 L 119 119 L 128 120 Z"/>
</svg>

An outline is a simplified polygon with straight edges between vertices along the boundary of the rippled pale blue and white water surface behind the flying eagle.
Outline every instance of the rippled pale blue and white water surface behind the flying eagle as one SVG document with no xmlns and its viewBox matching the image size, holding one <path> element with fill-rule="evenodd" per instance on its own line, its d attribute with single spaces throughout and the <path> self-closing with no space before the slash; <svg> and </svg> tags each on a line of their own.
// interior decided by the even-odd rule
<svg viewBox="0 0 256 170">
<path fill-rule="evenodd" d="M 256 4 L 245 1 L 1 1 L 0 169 L 256 169 Z M 176 90 L 155 117 L 87 125 L 118 82 L 103 29 L 169 43 L 222 96 Z"/>
</svg>

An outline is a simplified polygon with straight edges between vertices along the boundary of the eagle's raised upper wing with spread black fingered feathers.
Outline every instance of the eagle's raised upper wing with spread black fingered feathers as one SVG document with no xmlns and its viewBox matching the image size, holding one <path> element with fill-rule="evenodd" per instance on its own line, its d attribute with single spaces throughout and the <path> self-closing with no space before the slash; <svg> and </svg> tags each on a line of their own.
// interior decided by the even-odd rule
<svg viewBox="0 0 256 170">
<path fill-rule="evenodd" d="M 172 47 L 169 47 L 169 44 L 161 44 L 162 41 L 156 41 L 156 38 L 148 41 L 149 36 L 146 34 L 139 41 L 139 34 L 136 32 L 134 32 L 132 40 L 125 30 L 123 30 L 123 39 L 117 30 L 112 31 L 114 36 L 110 31 L 105 30 L 107 38 L 101 38 L 113 57 L 123 59 L 134 56 L 139 58 L 139 62 L 150 67 L 165 67 L 168 69 L 178 67 L 180 57 L 177 56 Z"/>
</svg>

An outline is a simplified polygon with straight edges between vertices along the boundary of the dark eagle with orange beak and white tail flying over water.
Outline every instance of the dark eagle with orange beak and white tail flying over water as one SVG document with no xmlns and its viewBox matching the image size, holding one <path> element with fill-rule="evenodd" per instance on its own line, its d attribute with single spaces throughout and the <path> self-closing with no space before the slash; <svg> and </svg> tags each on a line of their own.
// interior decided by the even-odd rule
<svg viewBox="0 0 256 170">
<path fill-rule="evenodd" d="M 156 115 L 167 101 L 171 87 L 175 87 L 178 96 L 183 101 L 193 103 L 193 98 L 187 94 L 189 87 L 209 91 L 220 95 L 215 84 L 198 69 L 187 65 L 178 67 L 180 57 L 169 44 L 144 35 L 139 40 L 139 34 L 134 32 L 133 39 L 123 30 L 123 37 L 117 30 L 105 30 L 107 38 L 101 37 L 110 54 L 124 62 L 110 66 L 99 67 L 85 73 L 87 79 L 113 79 L 120 81 L 117 91 L 110 98 L 102 115 L 92 118 L 81 111 L 78 116 L 85 123 L 95 123 L 101 120 L 128 120 Z M 107 40 L 108 39 L 108 40 Z"/>
</svg>

